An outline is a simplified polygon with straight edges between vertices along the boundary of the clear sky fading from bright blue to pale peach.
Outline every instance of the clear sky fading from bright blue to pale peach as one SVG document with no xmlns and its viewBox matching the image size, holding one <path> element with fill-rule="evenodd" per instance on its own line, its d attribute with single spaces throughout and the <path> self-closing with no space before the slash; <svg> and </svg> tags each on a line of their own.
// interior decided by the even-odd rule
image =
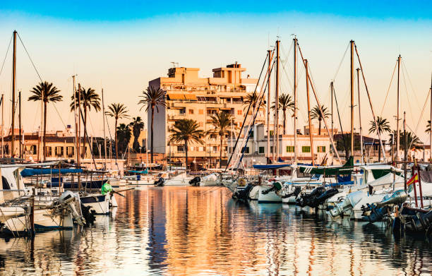
<svg viewBox="0 0 432 276">
<path fill-rule="evenodd" d="M 302 2 L 302 3 L 299 3 Z M 126 104 L 131 116 L 146 121 L 139 96 L 148 81 L 167 76 L 171 62 L 199 67 L 200 76 L 238 61 L 246 74 L 258 78 L 267 49 L 281 40 L 282 92 L 292 94 L 292 38 L 311 67 L 318 97 L 330 105 L 330 80 L 335 79 L 342 126 L 349 129 L 349 40 L 355 40 L 373 108 L 395 126 L 396 73 L 385 94 L 397 56 L 401 116 L 428 143 L 424 133 L 429 104 L 424 108 L 432 73 L 432 4 L 430 1 L 9 1 L 0 5 L 0 92 L 4 93 L 5 124 L 10 124 L 11 49 L 17 30 L 42 80 L 54 83 L 64 102 L 49 105 L 48 130 L 73 124 L 68 112 L 72 77 L 97 92 L 105 105 Z M 36 131 L 40 105 L 27 102 L 40 79 L 21 42 L 17 46 L 17 88 L 23 93 L 23 126 Z M 4 59 L 6 56 L 6 59 Z M 342 59 L 344 56 L 344 59 Z M 355 61 L 358 67 L 358 61 Z M 0 66 L 1 66 L 0 64 Z M 339 68 L 339 69 L 338 69 Z M 299 66 L 299 121 L 306 124 L 304 68 Z M 245 75 L 246 75 L 245 74 Z M 364 132 L 372 119 L 361 84 Z M 385 105 L 383 104 L 385 102 Z M 312 103 L 313 105 L 315 102 Z M 358 104 L 356 103 L 356 109 Z M 355 115 L 359 124 L 358 110 Z M 128 120 L 124 120 L 128 123 Z M 110 121 L 111 130 L 114 121 Z M 292 121 L 289 121 L 292 129 Z M 145 126 L 147 126 L 145 122 Z M 102 114 L 91 112 L 89 132 L 102 135 Z"/>
</svg>

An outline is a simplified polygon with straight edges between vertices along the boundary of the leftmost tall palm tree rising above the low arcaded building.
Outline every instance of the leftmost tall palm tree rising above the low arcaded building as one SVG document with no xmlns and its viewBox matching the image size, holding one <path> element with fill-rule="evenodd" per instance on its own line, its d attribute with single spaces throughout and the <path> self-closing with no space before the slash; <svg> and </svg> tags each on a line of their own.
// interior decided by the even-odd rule
<svg viewBox="0 0 432 276">
<path fill-rule="evenodd" d="M 47 104 L 49 102 L 60 102 L 63 100 L 63 96 L 59 95 L 60 90 L 56 88 L 52 83 L 44 81 L 36 85 L 30 92 L 33 93 L 28 97 L 29 101 L 43 101 L 44 102 L 44 136 L 47 133 Z M 45 149 L 46 139 L 42 145 L 42 160 L 45 160 L 46 149 Z"/>
</svg>

